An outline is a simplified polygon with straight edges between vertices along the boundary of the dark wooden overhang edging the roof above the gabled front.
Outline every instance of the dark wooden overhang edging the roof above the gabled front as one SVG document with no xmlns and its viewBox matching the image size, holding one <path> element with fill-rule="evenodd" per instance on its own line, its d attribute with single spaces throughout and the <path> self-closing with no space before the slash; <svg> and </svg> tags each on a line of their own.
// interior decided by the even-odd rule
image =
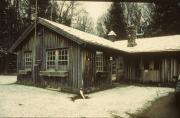
<svg viewBox="0 0 180 118">
<path fill-rule="evenodd" d="M 48 29 L 76 42 L 77 44 L 81 45 L 86 45 L 86 46 L 92 46 L 92 47 L 96 47 L 96 48 L 102 48 L 105 50 L 114 50 L 116 52 L 124 52 L 121 51 L 119 49 L 116 49 L 114 47 L 109 47 L 107 45 L 102 45 L 100 43 L 95 43 L 95 42 L 88 42 L 85 41 L 83 39 L 81 39 L 82 37 L 77 37 L 76 35 L 73 35 L 71 33 L 69 33 L 68 31 L 64 31 L 62 28 L 59 28 L 58 26 L 52 24 L 51 22 L 47 22 L 45 19 L 43 18 L 38 18 L 37 20 L 37 24 L 36 26 L 42 25 L 44 27 L 47 27 Z M 23 43 L 23 41 L 26 39 L 26 37 L 35 29 L 35 23 L 33 23 L 32 25 L 30 25 L 22 34 L 21 36 L 17 39 L 17 41 L 12 45 L 12 47 L 9 49 L 9 52 L 16 52 L 18 47 Z M 98 37 L 98 36 L 96 36 Z M 99 39 L 100 40 L 100 39 Z M 103 39 L 104 40 L 104 39 Z M 106 39 L 107 40 L 107 39 Z"/>
</svg>

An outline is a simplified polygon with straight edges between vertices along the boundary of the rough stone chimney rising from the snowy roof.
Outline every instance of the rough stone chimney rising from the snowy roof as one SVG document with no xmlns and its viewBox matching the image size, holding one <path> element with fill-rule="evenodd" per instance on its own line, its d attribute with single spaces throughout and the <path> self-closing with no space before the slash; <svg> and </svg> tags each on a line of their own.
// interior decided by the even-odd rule
<svg viewBox="0 0 180 118">
<path fill-rule="evenodd" d="M 134 47 L 137 45 L 135 39 L 136 36 L 136 27 L 134 25 L 128 26 L 128 44 L 127 47 Z"/>
</svg>

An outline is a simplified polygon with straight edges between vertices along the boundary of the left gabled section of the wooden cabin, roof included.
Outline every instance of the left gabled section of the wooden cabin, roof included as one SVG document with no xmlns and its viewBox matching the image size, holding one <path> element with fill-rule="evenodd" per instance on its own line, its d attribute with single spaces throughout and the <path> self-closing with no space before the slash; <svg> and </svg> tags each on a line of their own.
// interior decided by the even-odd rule
<svg viewBox="0 0 180 118">
<path fill-rule="evenodd" d="M 113 42 L 43 18 L 11 47 L 19 83 L 77 91 L 111 85 Z"/>
</svg>

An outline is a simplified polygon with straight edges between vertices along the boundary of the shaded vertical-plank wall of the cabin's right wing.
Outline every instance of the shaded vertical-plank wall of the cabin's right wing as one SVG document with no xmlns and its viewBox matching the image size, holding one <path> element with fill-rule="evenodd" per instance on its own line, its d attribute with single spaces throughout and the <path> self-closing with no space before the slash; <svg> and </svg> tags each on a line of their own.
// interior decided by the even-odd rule
<svg viewBox="0 0 180 118">
<path fill-rule="evenodd" d="M 180 74 L 178 53 L 137 54 L 125 56 L 125 60 L 127 81 L 172 83 L 174 82 L 173 77 Z M 149 69 L 145 68 L 146 63 L 149 64 Z"/>
</svg>

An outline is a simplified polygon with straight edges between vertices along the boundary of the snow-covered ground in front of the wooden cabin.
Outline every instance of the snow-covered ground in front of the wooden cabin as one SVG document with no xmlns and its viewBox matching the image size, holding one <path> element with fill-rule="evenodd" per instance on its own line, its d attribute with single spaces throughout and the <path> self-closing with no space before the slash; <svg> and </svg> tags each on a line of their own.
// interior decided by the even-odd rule
<svg viewBox="0 0 180 118">
<path fill-rule="evenodd" d="M 174 89 L 124 86 L 88 94 L 90 99 L 71 101 L 74 94 L 12 84 L 16 76 L 0 76 L 0 117 L 128 117 Z"/>
</svg>

